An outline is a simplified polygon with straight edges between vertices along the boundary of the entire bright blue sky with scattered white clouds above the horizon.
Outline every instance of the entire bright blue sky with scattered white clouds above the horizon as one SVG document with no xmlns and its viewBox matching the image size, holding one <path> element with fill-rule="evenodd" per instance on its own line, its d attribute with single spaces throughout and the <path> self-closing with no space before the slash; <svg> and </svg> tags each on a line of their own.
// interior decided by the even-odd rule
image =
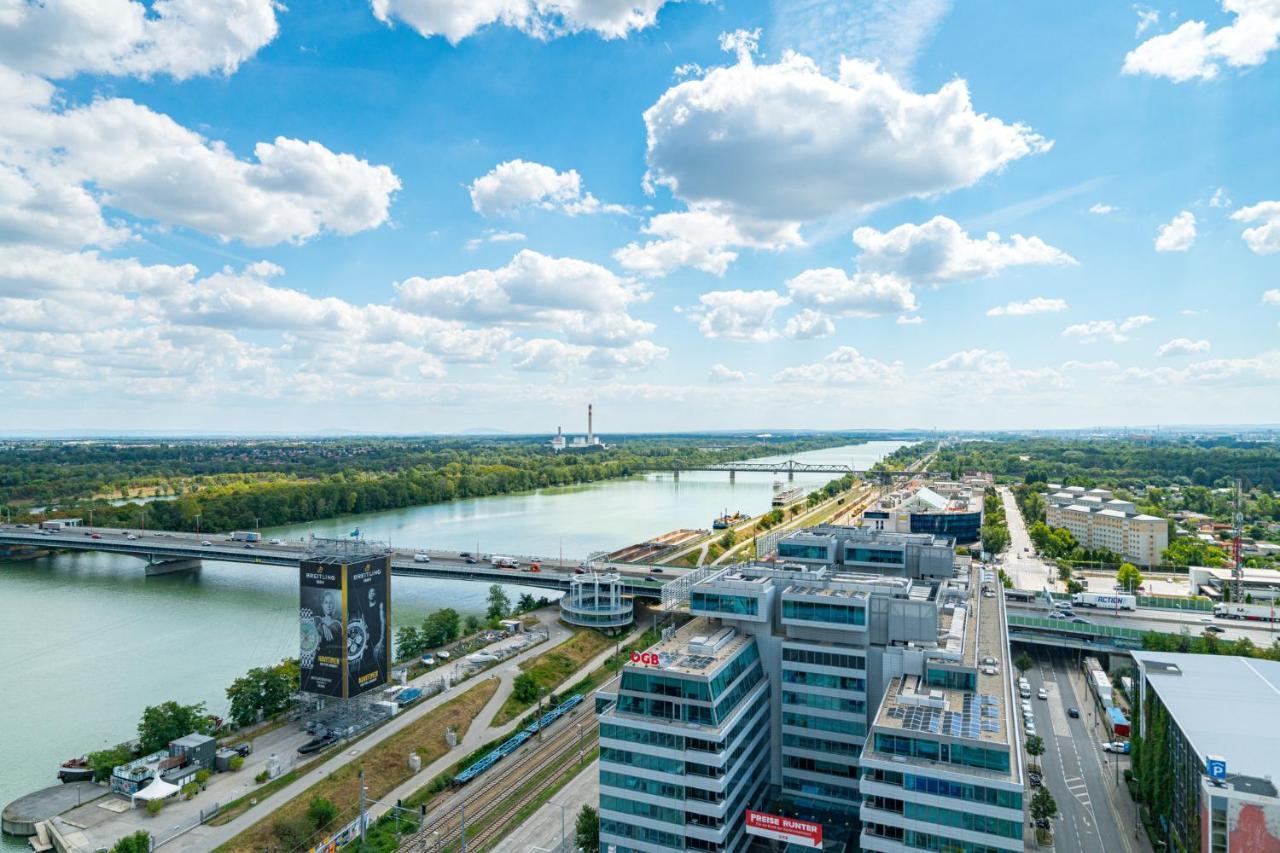
<svg viewBox="0 0 1280 853">
<path fill-rule="evenodd" d="M 1277 420 L 1274 3 L 109 5 L 0 17 L 3 429 Z"/>
</svg>

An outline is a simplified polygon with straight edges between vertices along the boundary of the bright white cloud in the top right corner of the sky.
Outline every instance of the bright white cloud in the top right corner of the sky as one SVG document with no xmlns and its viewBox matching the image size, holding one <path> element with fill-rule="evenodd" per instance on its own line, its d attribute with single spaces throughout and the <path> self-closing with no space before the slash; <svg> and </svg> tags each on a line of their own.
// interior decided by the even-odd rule
<svg viewBox="0 0 1280 853">
<path fill-rule="evenodd" d="M 1167 77 L 1175 83 L 1212 79 L 1224 64 L 1261 65 L 1280 46 L 1276 0 L 1222 0 L 1222 10 L 1235 15 L 1225 27 L 1211 31 L 1203 20 L 1188 20 L 1142 42 L 1125 55 L 1124 73 Z"/>
</svg>

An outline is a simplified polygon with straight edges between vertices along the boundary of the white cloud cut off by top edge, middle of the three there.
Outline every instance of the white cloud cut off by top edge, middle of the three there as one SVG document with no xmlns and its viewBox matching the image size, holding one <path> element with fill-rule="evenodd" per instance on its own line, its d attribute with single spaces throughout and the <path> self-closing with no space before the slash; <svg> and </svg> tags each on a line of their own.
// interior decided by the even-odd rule
<svg viewBox="0 0 1280 853">
<path fill-rule="evenodd" d="M 502 24 L 535 38 L 593 31 L 626 38 L 654 26 L 658 12 L 680 0 L 370 0 L 383 23 L 402 20 L 424 37 L 458 44 L 477 29 Z"/>
</svg>

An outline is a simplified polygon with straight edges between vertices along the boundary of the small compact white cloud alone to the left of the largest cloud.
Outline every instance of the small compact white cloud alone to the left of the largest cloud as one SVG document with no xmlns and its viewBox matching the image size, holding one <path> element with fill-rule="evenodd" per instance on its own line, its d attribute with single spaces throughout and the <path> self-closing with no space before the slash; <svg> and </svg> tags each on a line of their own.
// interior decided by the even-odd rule
<svg viewBox="0 0 1280 853">
<path fill-rule="evenodd" d="M 602 204 L 582 191 L 575 169 L 557 172 L 541 163 L 507 160 L 471 182 L 471 207 L 481 216 L 509 216 L 526 207 L 559 210 L 571 216 L 593 213 L 626 213 L 618 205 Z"/>
</svg>

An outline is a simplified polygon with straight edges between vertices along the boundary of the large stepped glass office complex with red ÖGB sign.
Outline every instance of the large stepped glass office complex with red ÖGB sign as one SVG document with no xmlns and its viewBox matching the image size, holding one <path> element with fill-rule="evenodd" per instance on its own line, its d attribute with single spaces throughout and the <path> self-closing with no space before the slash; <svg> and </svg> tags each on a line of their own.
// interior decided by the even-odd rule
<svg viewBox="0 0 1280 853">
<path fill-rule="evenodd" d="M 998 581 L 952 569 L 950 539 L 815 535 L 828 555 L 897 564 L 717 571 L 689 587 L 695 619 L 596 694 L 602 853 L 737 853 L 755 835 L 796 850 L 1023 849 Z"/>
</svg>

